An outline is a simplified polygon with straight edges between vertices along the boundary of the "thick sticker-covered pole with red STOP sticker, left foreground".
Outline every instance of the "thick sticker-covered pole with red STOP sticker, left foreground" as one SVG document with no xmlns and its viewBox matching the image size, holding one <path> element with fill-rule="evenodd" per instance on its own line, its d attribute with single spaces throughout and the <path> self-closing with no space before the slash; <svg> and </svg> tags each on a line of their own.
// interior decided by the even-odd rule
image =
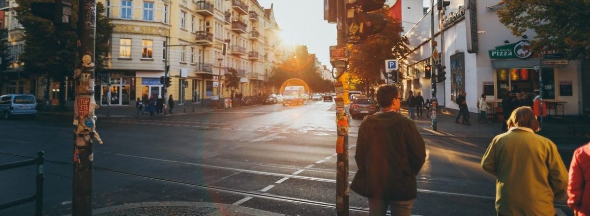
<svg viewBox="0 0 590 216">
<path fill-rule="evenodd" d="M 96 0 L 78 1 L 78 66 L 74 72 L 74 178 L 72 215 L 92 215 L 93 141 L 96 133 L 94 100 L 94 42 L 96 38 Z"/>
</svg>

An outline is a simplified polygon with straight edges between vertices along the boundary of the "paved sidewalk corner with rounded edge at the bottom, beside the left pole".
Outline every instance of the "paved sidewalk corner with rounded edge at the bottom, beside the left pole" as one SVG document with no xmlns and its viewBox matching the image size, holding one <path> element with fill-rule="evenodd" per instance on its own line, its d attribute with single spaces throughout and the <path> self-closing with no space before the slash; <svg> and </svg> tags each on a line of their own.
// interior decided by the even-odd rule
<svg viewBox="0 0 590 216">
<path fill-rule="evenodd" d="M 116 205 L 93 210 L 95 216 L 283 216 L 239 205 L 192 202 L 145 202 Z M 70 215 L 64 215 L 70 216 Z"/>
</svg>

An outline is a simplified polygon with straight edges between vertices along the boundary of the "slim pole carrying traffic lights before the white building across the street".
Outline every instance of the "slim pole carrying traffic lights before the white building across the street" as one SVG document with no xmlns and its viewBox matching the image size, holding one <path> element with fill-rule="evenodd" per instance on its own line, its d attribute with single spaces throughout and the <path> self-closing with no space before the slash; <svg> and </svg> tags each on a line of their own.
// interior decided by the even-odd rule
<svg viewBox="0 0 590 216">
<path fill-rule="evenodd" d="M 432 57 L 430 60 L 430 68 L 431 68 L 431 76 L 430 76 L 430 87 L 431 87 L 431 107 L 432 107 L 432 130 L 437 130 L 437 112 L 438 112 L 438 100 L 437 100 L 437 76 L 436 76 L 436 66 L 435 61 L 437 59 L 434 58 L 434 54 L 436 52 L 436 46 L 434 41 L 434 0 L 430 0 L 430 44 L 432 50 Z M 441 44 L 442 46 L 442 44 Z"/>
</svg>

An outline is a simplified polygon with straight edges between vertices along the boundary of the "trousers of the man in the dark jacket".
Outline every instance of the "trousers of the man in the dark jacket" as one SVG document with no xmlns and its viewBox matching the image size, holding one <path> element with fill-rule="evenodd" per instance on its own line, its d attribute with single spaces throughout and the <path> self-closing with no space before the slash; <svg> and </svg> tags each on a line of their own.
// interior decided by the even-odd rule
<svg viewBox="0 0 590 216">
<path fill-rule="evenodd" d="M 387 201 L 369 198 L 369 216 L 385 216 L 387 207 L 391 216 L 410 216 L 414 200 L 408 201 Z"/>
</svg>

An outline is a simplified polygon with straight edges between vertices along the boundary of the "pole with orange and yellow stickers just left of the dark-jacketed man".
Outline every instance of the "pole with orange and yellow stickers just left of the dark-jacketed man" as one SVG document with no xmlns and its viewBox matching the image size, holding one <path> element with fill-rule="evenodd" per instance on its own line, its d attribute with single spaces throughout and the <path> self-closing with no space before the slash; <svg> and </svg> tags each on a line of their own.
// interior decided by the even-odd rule
<svg viewBox="0 0 590 216">
<path fill-rule="evenodd" d="M 337 11 L 337 43 L 338 46 L 346 46 L 346 29 L 348 23 L 346 23 L 346 0 L 336 1 Z M 343 103 L 344 112 L 348 112 L 348 106 L 350 104 L 348 100 L 348 73 L 346 73 L 346 67 L 338 67 L 337 82 L 341 82 L 343 86 Z M 345 119 L 346 122 L 340 123 L 339 118 Z M 338 153 L 336 160 L 336 215 L 337 216 L 348 216 L 349 215 L 349 185 L 348 185 L 348 114 L 343 117 L 339 117 L 339 111 L 336 110 L 336 128 L 338 133 L 338 139 L 343 137 L 342 140 L 336 141 L 336 151 Z M 340 145 L 341 144 L 341 145 Z M 340 152 L 338 152 L 340 150 Z"/>
</svg>

